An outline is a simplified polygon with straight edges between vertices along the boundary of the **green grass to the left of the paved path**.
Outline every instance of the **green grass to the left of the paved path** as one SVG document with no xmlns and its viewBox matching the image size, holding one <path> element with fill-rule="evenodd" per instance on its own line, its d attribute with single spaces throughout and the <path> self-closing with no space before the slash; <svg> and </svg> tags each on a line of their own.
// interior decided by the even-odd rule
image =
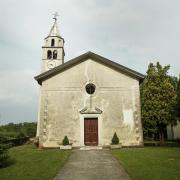
<svg viewBox="0 0 180 180">
<path fill-rule="evenodd" d="M 0 169 L 2 180 L 50 180 L 71 154 L 58 149 L 42 150 L 33 145 L 11 148 L 10 157 L 14 163 Z"/>
</svg>

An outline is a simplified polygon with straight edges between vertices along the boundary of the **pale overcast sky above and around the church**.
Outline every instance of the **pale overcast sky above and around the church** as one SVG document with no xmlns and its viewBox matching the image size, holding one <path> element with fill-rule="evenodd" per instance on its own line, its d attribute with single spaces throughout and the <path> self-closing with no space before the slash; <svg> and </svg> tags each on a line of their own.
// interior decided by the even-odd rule
<svg viewBox="0 0 180 180">
<path fill-rule="evenodd" d="M 59 13 L 65 62 L 92 51 L 146 74 L 150 62 L 180 73 L 179 0 L 1 0 L 0 124 L 38 117 L 41 47 Z"/>
</svg>

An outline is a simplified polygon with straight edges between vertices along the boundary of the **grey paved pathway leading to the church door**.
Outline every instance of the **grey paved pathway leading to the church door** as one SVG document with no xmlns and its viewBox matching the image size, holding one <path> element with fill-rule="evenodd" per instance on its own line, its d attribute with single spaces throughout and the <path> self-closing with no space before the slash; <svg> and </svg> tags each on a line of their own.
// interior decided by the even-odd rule
<svg viewBox="0 0 180 180">
<path fill-rule="evenodd" d="M 75 150 L 54 180 L 129 180 L 109 150 Z"/>
</svg>

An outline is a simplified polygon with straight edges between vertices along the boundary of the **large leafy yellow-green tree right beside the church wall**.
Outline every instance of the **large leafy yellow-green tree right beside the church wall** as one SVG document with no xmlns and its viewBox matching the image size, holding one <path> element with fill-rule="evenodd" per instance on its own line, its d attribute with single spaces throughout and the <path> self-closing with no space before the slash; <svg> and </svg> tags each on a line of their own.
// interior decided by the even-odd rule
<svg viewBox="0 0 180 180">
<path fill-rule="evenodd" d="M 169 68 L 162 67 L 159 62 L 156 65 L 150 63 L 141 92 L 144 129 L 158 131 L 161 145 L 176 103 L 176 91 L 167 75 Z"/>
</svg>

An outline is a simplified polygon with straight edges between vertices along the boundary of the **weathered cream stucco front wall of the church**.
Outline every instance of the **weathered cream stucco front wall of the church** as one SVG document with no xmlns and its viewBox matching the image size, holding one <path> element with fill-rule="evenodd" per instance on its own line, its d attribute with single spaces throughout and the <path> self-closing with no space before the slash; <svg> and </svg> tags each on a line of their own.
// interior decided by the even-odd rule
<svg viewBox="0 0 180 180">
<path fill-rule="evenodd" d="M 92 96 L 85 91 L 89 82 L 96 85 Z M 79 112 L 89 107 L 102 113 Z M 98 117 L 99 145 L 109 145 L 114 132 L 123 146 L 142 145 L 138 80 L 88 59 L 43 81 L 40 146 L 58 147 L 65 135 L 83 146 L 84 117 Z"/>
</svg>

